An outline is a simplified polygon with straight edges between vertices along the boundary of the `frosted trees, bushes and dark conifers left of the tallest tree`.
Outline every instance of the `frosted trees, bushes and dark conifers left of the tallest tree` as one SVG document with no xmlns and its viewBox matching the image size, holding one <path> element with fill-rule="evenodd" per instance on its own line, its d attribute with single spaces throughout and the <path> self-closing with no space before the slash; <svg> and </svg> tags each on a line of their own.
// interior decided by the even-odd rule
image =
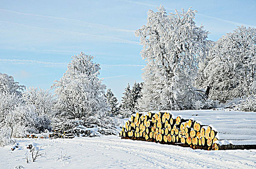
<svg viewBox="0 0 256 169">
<path fill-rule="evenodd" d="M 0 73 L 0 146 L 27 133 L 45 133 L 58 128 L 77 136 L 118 134 L 119 118 L 137 109 L 143 83 L 128 84 L 119 103 L 98 77 L 100 65 L 93 56 L 72 56 L 66 72 L 50 90 L 28 87 Z"/>
</svg>

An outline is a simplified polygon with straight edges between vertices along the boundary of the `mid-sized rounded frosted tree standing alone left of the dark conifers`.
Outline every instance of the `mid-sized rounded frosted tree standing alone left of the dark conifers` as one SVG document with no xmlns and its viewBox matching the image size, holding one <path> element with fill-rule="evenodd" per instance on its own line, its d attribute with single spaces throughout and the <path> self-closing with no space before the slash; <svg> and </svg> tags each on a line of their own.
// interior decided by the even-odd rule
<svg viewBox="0 0 256 169">
<path fill-rule="evenodd" d="M 67 71 L 53 84 L 57 95 L 56 108 L 60 116 L 84 119 L 96 113 L 105 113 L 109 107 L 104 97 L 105 85 L 99 79 L 100 65 L 93 56 L 80 53 L 72 56 Z"/>
</svg>

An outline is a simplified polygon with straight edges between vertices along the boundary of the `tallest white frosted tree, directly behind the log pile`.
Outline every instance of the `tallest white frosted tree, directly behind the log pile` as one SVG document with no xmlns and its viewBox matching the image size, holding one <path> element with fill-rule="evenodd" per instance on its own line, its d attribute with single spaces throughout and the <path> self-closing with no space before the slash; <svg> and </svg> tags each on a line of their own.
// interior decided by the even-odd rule
<svg viewBox="0 0 256 169">
<path fill-rule="evenodd" d="M 145 84 L 139 108 L 147 110 L 192 109 L 203 95 L 194 82 L 199 60 L 205 55 L 208 32 L 194 21 L 196 11 L 166 14 L 149 10 L 147 24 L 136 30 L 147 62 L 142 79 Z"/>
</svg>

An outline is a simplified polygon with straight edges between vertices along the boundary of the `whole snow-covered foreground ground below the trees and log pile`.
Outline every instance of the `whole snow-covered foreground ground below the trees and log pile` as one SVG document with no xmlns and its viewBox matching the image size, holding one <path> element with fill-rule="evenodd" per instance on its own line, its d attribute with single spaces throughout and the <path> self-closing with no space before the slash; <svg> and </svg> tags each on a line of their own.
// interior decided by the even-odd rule
<svg viewBox="0 0 256 169">
<path fill-rule="evenodd" d="M 200 169 L 256 168 L 256 150 L 205 151 L 175 145 L 120 139 L 117 136 L 75 139 L 19 139 L 19 148 L 0 148 L 0 169 Z M 27 163 L 27 145 L 44 156 Z"/>
</svg>

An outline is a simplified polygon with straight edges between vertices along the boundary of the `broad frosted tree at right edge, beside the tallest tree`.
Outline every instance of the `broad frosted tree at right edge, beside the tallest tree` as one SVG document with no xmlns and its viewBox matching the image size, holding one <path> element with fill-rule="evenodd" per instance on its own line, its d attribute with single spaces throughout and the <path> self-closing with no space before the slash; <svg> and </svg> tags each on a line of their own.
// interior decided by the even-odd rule
<svg viewBox="0 0 256 169">
<path fill-rule="evenodd" d="M 203 70 L 203 87 L 221 102 L 256 93 L 256 28 L 238 27 L 220 38 Z"/>
</svg>

